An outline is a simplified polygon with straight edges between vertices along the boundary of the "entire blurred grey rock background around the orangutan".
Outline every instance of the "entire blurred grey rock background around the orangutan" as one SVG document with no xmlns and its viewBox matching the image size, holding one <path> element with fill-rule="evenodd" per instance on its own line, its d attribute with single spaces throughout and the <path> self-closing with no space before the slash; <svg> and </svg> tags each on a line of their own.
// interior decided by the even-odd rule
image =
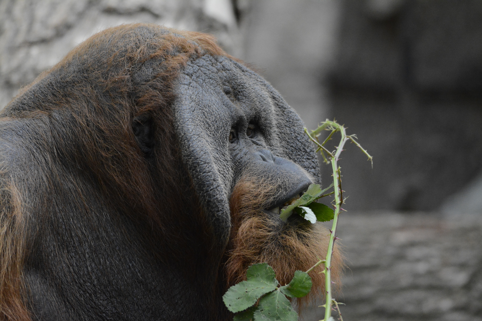
<svg viewBox="0 0 482 321">
<path fill-rule="evenodd" d="M 0 0 L 0 109 L 133 22 L 214 33 L 308 128 L 335 117 L 374 156 L 340 162 L 345 321 L 482 321 L 482 1 Z"/>
</svg>

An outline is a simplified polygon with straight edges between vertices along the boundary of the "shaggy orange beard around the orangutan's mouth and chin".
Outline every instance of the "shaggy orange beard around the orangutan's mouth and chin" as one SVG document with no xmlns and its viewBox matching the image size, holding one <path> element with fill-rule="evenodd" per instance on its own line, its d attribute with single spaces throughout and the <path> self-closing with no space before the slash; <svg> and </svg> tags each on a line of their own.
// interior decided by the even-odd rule
<svg viewBox="0 0 482 321">
<path fill-rule="evenodd" d="M 234 187 L 230 198 L 231 235 L 225 273 L 228 286 L 246 280 L 246 270 L 254 263 L 268 263 L 276 272 L 281 285 L 288 284 L 295 270 L 307 271 L 328 249 L 330 232 L 321 223 L 312 224 L 293 214 L 287 222 L 265 206 L 283 186 L 281 182 L 266 182 L 259 178 L 243 177 Z M 331 277 L 334 288 L 340 287 L 343 257 L 335 246 L 332 257 Z M 297 300 L 298 306 L 324 294 L 324 265 L 309 273 L 313 282 L 311 292 Z"/>
</svg>

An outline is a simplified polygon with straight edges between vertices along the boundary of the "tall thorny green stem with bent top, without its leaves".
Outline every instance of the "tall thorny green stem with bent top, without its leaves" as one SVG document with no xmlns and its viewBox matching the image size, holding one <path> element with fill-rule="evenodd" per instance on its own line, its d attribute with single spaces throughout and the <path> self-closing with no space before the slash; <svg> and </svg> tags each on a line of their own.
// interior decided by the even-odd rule
<svg viewBox="0 0 482 321">
<path fill-rule="evenodd" d="M 320 135 L 321 131 L 325 130 L 325 129 L 331 130 L 331 133 L 323 141 L 323 143 L 320 144 L 320 142 L 318 141 L 318 135 Z M 323 145 L 331 139 L 331 136 L 336 131 L 340 132 L 340 135 L 341 135 L 340 143 L 336 147 L 335 152 L 330 153 Z M 340 214 L 340 211 L 343 210 L 341 208 L 341 205 L 343 204 L 343 194 L 342 194 L 343 191 L 341 190 L 341 169 L 337 165 L 337 161 L 340 159 L 340 154 L 343 151 L 343 146 L 349 140 L 354 142 L 362 150 L 362 152 L 368 156 L 368 159 L 370 161 L 372 161 L 372 156 L 370 156 L 367 153 L 367 151 L 364 150 L 362 148 L 362 146 L 360 146 L 360 144 L 357 141 L 355 141 L 355 139 L 354 139 L 354 137 L 356 137 L 355 135 L 347 136 L 347 134 L 345 132 L 345 127 L 343 127 L 342 125 L 338 124 L 335 121 L 331 121 L 331 120 L 327 119 L 317 129 L 312 130 L 311 135 L 310 135 L 310 133 L 308 133 L 307 128 L 305 128 L 305 132 L 307 133 L 310 140 L 318 145 L 318 147 L 319 147 L 318 150 L 324 151 L 326 154 L 328 154 L 328 156 L 330 157 L 331 164 L 332 164 L 333 186 L 334 186 L 333 187 L 334 191 L 332 193 L 335 194 L 335 213 L 334 213 L 334 218 L 333 218 L 332 229 L 330 230 L 330 241 L 328 243 L 328 251 L 327 251 L 327 254 L 326 254 L 326 257 L 325 257 L 325 260 L 324 260 L 325 269 L 324 269 L 323 273 L 325 274 L 326 302 L 323 305 L 323 307 L 325 308 L 325 316 L 324 316 L 323 321 L 326 321 L 331 317 L 331 311 L 332 311 L 333 304 L 335 304 L 335 307 L 338 310 L 338 314 L 340 315 L 340 320 L 343 321 L 343 319 L 341 319 L 341 313 L 340 313 L 340 310 L 338 308 L 338 303 L 333 299 L 333 293 L 332 293 L 332 287 L 331 287 L 331 285 L 332 285 L 332 281 L 331 281 L 331 260 L 332 260 L 332 256 L 333 256 L 333 246 L 334 246 L 335 239 L 336 239 L 336 228 L 338 226 L 338 215 Z M 316 140 L 313 139 L 312 136 L 316 136 L 317 139 Z M 321 152 L 321 154 L 323 155 L 322 152 Z M 325 160 L 325 163 L 328 163 L 328 160 L 325 158 L 324 155 L 323 155 L 323 159 Z M 372 161 L 372 166 L 373 166 L 373 161 Z M 330 194 L 332 194 L 332 193 L 330 193 Z M 327 194 L 327 195 L 329 195 L 329 194 Z M 326 195 L 322 195 L 322 196 L 326 196 Z"/>
</svg>

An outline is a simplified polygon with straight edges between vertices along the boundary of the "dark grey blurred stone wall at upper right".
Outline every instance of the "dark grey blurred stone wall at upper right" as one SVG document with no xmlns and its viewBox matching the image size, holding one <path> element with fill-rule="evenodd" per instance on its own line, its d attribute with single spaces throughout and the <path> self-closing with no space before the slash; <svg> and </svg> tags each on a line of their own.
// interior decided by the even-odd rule
<svg viewBox="0 0 482 321">
<path fill-rule="evenodd" d="M 374 155 L 348 147 L 347 208 L 433 211 L 476 179 L 481 39 L 481 1 L 343 1 L 332 113 Z"/>
</svg>

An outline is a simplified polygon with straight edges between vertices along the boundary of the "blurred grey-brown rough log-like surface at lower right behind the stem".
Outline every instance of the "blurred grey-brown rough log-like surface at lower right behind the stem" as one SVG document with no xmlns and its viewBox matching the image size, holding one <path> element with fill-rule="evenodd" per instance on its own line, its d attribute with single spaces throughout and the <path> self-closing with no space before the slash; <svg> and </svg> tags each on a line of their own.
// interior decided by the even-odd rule
<svg viewBox="0 0 482 321">
<path fill-rule="evenodd" d="M 345 321 L 482 320 L 481 215 L 349 212 L 337 234 L 348 258 Z"/>
</svg>

